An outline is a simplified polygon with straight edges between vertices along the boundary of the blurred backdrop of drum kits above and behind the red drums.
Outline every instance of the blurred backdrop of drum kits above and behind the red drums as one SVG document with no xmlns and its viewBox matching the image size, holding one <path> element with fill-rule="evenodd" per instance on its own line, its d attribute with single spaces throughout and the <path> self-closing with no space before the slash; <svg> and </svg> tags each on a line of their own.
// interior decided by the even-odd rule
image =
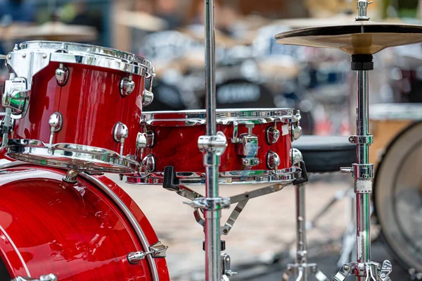
<svg viewBox="0 0 422 281">
<path fill-rule="evenodd" d="M 355 13 L 355 1 L 345 0 L 216 1 L 217 107 L 294 107 L 302 112 L 307 134 L 349 134 L 350 57 L 338 50 L 281 46 L 274 35 L 347 23 Z M 419 3 L 374 1 L 369 14 L 373 20 L 417 23 Z M 202 0 L 0 0 L 0 54 L 27 39 L 131 51 L 155 65 L 155 101 L 146 110 L 204 108 L 202 24 Z M 377 54 L 371 103 L 420 102 L 421 60 L 420 45 Z M 3 69 L 2 80 L 6 75 Z"/>
</svg>

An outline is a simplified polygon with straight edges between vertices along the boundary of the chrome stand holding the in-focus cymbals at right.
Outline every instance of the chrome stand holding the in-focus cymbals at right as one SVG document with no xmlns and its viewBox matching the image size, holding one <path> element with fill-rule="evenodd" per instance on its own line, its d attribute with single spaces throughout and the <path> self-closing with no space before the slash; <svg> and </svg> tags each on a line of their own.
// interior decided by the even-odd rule
<svg viewBox="0 0 422 281">
<path fill-rule="evenodd" d="M 359 15 L 356 20 L 369 20 L 366 9 L 371 2 L 357 1 Z M 352 55 L 352 70 L 357 71 L 357 135 L 351 136 L 349 142 L 356 144 L 357 163 L 352 167 L 341 168 L 343 173 L 352 173 L 354 192 L 356 193 L 356 256 L 357 261 L 343 265 L 334 276 L 333 281 L 343 281 L 347 275 L 355 275 L 357 281 L 390 281 L 392 266 L 390 261 L 379 263 L 371 261 L 371 193 L 373 164 L 369 163 L 369 146 L 373 137 L 369 134 L 369 82 L 368 71 L 373 70 L 373 57 L 370 54 Z"/>
</svg>

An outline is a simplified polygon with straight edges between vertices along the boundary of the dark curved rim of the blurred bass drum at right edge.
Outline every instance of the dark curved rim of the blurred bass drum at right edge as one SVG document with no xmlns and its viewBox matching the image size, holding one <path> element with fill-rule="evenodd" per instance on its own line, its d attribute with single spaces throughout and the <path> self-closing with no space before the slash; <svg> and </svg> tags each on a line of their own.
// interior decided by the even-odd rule
<svg viewBox="0 0 422 281">
<path fill-rule="evenodd" d="M 401 263 L 402 266 L 406 266 L 406 268 L 411 268 L 414 267 L 416 268 L 416 270 L 421 270 L 421 268 L 417 268 L 417 266 L 421 266 L 421 264 L 417 265 L 417 262 L 415 263 L 414 261 L 412 261 L 411 259 L 408 258 L 403 258 L 402 254 L 399 254 L 399 251 L 397 251 L 397 242 L 394 242 L 395 239 L 397 239 L 397 237 L 391 237 L 391 235 L 388 235 L 387 232 L 385 231 L 385 227 L 383 227 L 383 221 L 380 218 L 379 214 L 380 212 L 380 207 L 378 206 L 378 196 L 379 196 L 379 192 L 377 192 L 378 188 L 378 180 L 381 177 L 381 171 L 383 169 L 383 167 L 385 166 L 385 159 L 388 156 L 388 151 L 390 151 L 390 149 L 392 148 L 392 146 L 396 146 L 397 142 L 399 142 L 400 139 L 403 138 L 403 135 L 406 134 L 406 132 L 409 132 L 410 130 L 412 130 L 412 128 L 417 127 L 417 126 L 421 126 L 422 125 L 422 120 L 415 120 L 414 123 L 411 123 L 410 125 L 408 125 L 407 127 L 404 127 L 403 130 L 401 130 L 400 132 L 397 133 L 397 135 L 394 137 L 394 139 L 392 139 L 392 141 L 388 144 L 388 146 L 385 148 L 385 154 L 383 154 L 383 157 L 381 158 L 381 161 L 378 163 L 378 168 L 376 169 L 376 174 L 373 180 L 373 207 L 374 207 L 374 214 L 377 217 L 378 223 L 381 225 L 381 236 L 383 237 L 383 239 L 385 240 L 385 242 L 388 244 L 389 246 L 389 250 L 392 252 L 392 254 L 394 254 L 396 256 L 396 258 L 399 260 L 399 262 Z M 377 196 L 378 194 L 378 196 Z M 395 223 L 395 227 L 397 227 L 397 223 Z M 402 249 L 402 245 L 399 245 L 399 248 Z M 407 251 L 408 252 L 408 251 Z M 407 253 L 409 254 L 409 253 Z"/>
</svg>

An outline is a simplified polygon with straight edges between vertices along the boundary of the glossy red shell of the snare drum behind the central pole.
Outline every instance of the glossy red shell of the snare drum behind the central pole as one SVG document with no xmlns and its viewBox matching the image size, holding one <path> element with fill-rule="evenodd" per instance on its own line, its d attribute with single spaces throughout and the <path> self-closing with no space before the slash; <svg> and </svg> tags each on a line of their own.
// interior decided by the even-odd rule
<svg viewBox="0 0 422 281">
<path fill-rule="evenodd" d="M 169 115 L 166 115 L 166 117 L 169 118 Z M 181 121 L 181 127 L 177 127 L 177 121 L 172 120 L 172 127 L 166 127 L 163 123 L 165 121 L 160 120 L 160 126 L 146 126 L 146 130 L 153 130 L 155 133 L 155 144 L 152 148 L 144 149 L 143 155 L 153 154 L 155 156 L 155 172 L 163 172 L 166 166 L 174 166 L 177 172 L 205 173 L 203 154 L 198 149 L 198 138 L 205 135 L 205 125 L 189 127 L 185 125 L 185 121 Z M 280 122 L 277 123 L 280 131 L 282 125 Z M 275 144 L 268 144 L 266 137 L 267 127 L 274 127 L 274 123 L 255 124 L 252 134 L 258 137 L 256 157 L 260 159 L 260 164 L 254 167 L 245 167 L 242 164 L 243 156 L 236 154 L 236 144 L 231 143 L 233 125 L 217 125 L 217 131 L 221 131 L 226 135 L 228 144 L 226 151 L 221 156 L 219 171 L 268 170 L 268 151 L 274 151 L 279 154 L 281 159 L 279 169 L 291 167 L 290 133 L 280 136 L 279 141 Z M 141 132 L 143 131 L 143 126 L 141 126 Z M 238 125 L 238 136 L 247 132 L 245 125 Z"/>
</svg>

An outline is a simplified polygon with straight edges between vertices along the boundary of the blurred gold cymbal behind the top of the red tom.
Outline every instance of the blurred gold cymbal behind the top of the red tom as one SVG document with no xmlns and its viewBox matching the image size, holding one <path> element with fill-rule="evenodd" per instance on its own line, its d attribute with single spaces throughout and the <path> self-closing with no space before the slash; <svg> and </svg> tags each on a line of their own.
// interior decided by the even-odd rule
<svg viewBox="0 0 422 281">
<path fill-rule="evenodd" d="M 94 27 L 66 25 L 60 22 L 47 22 L 39 26 L 19 28 L 18 32 L 8 32 L 8 39 L 40 39 L 67 42 L 89 42 L 97 37 Z"/>
</svg>

